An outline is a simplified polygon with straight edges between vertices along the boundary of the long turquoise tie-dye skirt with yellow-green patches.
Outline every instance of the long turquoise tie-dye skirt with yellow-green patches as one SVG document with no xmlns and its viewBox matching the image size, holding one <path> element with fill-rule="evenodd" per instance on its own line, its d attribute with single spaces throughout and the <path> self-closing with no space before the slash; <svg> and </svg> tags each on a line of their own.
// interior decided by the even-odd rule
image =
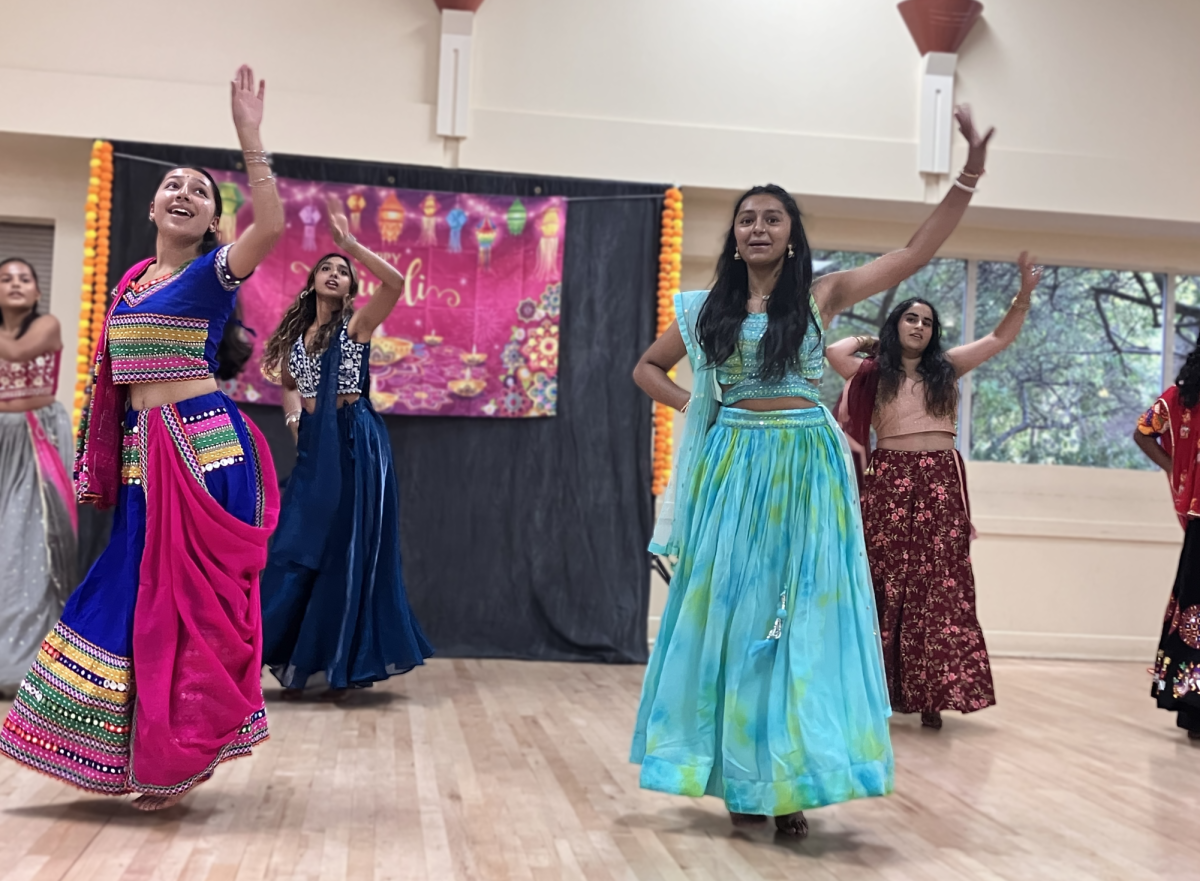
<svg viewBox="0 0 1200 881">
<path fill-rule="evenodd" d="M 722 407 L 642 687 L 644 789 L 779 816 L 893 787 L 858 492 L 824 408 Z"/>
</svg>

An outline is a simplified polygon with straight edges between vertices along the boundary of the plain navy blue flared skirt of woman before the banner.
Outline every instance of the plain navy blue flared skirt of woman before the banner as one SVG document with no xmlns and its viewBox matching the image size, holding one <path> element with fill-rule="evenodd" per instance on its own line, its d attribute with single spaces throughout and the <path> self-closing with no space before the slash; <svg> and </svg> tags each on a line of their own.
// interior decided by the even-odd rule
<svg viewBox="0 0 1200 881">
<path fill-rule="evenodd" d="M 433 654 L 401 574 L 400 492 L 383 419 L 361 397 L 338 408 L 336 422 L 335 438 L 319 409 L 300 416 L 299 457 L 263 574 L 263 663 L 284 688 L 361 688 Z"/>
</svg>

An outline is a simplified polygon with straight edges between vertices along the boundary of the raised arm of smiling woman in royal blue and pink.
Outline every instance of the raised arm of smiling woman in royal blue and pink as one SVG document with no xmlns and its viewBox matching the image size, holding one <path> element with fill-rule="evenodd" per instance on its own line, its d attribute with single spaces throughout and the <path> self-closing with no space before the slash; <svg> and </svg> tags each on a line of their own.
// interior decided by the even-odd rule
<svg viewBox="0 0 1200 881">
<path fill-rule="evenodd" d="M 245 156 L 250 180 L 250 200 L 254 206 L 254 222 L 238 236 L 229 248 L 229 271 L 245 278 L 262 263 L 283 234 L 283 203 L 275 191 L 275 176 L 263 151 L 259 127 L 263 124 L 263 94 L 266 80 L 254 91 L 254 72 L 247 65 L 238 68 L 229 84 L 233 102 L 233 124 Z"/>
</svg>

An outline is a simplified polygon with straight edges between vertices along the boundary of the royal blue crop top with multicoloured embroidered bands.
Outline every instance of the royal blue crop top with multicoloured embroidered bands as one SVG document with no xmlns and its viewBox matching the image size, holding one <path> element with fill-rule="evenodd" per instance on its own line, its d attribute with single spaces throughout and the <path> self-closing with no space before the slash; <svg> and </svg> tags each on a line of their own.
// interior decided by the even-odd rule
<svg viewBox="0 0 1200 881">
<path fill-rule="evenodd" d="M 230 247 L 197 257 L 168 278 L 118 292 L 108 319 L 114 383 L 182 382 L 216 372 L 217 346 L 244 281 L 229 271 Z"/>
</svg>

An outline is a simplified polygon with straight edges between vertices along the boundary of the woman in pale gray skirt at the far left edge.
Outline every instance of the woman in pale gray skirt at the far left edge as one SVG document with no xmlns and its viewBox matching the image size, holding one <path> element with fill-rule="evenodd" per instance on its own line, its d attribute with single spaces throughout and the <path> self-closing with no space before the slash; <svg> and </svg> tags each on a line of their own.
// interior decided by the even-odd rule
<svg viewBox="0 0 1200 881">
<path fill-rule="evenodd" d="M 54 395 L 62 336 L 37 272 L 0 262 L 0 693 L 11 696 L 76 586 L 71 418 Z"/>
</svg>

